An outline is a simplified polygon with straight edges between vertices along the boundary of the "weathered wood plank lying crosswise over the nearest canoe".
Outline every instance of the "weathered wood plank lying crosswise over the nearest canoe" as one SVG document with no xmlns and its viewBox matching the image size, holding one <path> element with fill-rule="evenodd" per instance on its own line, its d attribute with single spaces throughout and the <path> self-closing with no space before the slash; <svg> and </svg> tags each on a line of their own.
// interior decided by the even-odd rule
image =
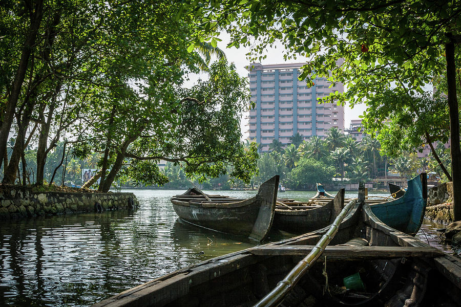
<svg viewBox="0 0 461 307">
<path fill-rule="evenodd" d="M 248 250 L 260 256 L 306 255 L 313 249 L 305 246 L 257 246 Z M 327 246 L 323 252 L 329 259 L 367 259 L 367 258 L 400 258 L 400 257 L 438 257 L 444 252 L 432 247 L 394 247 L 394 246 Z"/>
</svg>

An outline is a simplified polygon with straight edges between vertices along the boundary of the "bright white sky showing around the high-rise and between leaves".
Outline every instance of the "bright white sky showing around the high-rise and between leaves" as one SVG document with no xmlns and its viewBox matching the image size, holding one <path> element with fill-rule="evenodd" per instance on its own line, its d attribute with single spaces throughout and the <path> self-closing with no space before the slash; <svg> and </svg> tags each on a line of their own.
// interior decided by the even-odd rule
<svg viewBox="0 0 461 307">
<path fill-rule="evenodd" d="M 227 33 L 221 33 L 219 36 L 222 41 L 218 41 L 218 47 L 224 51 L 226 54 L 227 60 L 229 62 L 234 62 L 236 67 L 237 67 L 237 72 L 239 73 L 240 76 L 242 77 L 247 77 L 248 76 L 248 71 L 245 69 L 246 65 L 250 63 L 250 61 L 247 59 L 246 54 L 249 51 L 249 48 L 243 48 L 240 47 L 239 49 L 232 47 L 227 49 L 227 43 L 230 41 L 230 37 Z M 276 48 L 268 48 L 267 52 L 264 53 L 264 55 L 267 55 L 267 57 L 264 60 L 261 60 L 261 64 L 278 64 L 278 63 L 301 63 L 305 62 L 307 58 L 305 57 L 297 57 L 297 59 L 292 59 L 289 61 L 285 61 L 283 58 L 283 51 L 285 50 L 284 47 L 281 44 L 275 45 Z M 190 75 L 190 80 L 185 82 L 185 86 L 192 86 L 194 82 L 197 81 L 198 78 L 200 78 L 199 75 Z M 203 76 L 203 78 L 206 78 Z M 360 104 L 360 105 L 355 105 L 353 109 L 349 107 L 349 105 L 346 105 L 344 108 L 344 127 L 348 128 L 350 121 L 352 119 L 359 119 L 359 115 L 362 115 L 363 112 L 365 111 L 366 106 L 365 104 Z M 244 116 L 245 117 L 245 116 Z M 245 139 L 248 134 L 246 131 L 248 130 L 248 127 L 245 126 L 247 124 L 248 120 L 245 118 L 242 120 L 242 134 L 243 138 Z"/>
</svg>

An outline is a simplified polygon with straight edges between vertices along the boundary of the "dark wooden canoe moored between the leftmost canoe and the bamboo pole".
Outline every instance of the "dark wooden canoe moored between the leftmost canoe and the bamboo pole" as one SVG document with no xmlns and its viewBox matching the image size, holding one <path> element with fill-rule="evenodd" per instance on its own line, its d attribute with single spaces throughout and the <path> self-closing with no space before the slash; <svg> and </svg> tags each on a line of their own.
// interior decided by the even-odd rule
<svg viewBox="0 0 461 307">
<path fill-rule="evenodd" d="M 312 200 L 278 199 L 272 227 L 294 234 L 317 230 L 330 225 L 343 207 L 344 199 L 340 199 L 340 193 L 325 205 L 318 205 Z"/>
</svg>

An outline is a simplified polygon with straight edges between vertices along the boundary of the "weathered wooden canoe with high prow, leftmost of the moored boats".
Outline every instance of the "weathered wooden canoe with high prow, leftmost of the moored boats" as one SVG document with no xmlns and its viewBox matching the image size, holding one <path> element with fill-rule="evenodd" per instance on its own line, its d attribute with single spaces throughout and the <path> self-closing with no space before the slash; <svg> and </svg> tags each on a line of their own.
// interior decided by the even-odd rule
<svg viewBox="0 0 461 307">
<path fill-rule="evenodd" d="M 204 228 L 263 240 L 272 225 L 279 176 L 264 182 L 249 199 L 207 195 L 192 188 L 171 198 L 173 209 L 185 222 Z"/>
</svg>

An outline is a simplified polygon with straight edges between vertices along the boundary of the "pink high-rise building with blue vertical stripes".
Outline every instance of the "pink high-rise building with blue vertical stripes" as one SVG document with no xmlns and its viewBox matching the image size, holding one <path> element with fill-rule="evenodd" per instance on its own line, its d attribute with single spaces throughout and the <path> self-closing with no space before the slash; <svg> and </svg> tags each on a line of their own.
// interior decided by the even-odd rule
<svg viewBox="0 0 461 307">
<path fill-rule="evenodd" d="M 247 67 L 252 100 L 256 107 L 249 112 L 249 139 L 267 151 L 274 139 L 284 145 L 299 133 L 303 139 L 324 138 L 328 129 L 344 130 L 344 107 L 336 103 L 321 103 L 317 98 L 338 91 L 340 82 L 330 87 L 326 78 L 316 78 L 312 87 L 298 80 L 299 69 L 305 63 L 261 65 Z"/>
</svg>

